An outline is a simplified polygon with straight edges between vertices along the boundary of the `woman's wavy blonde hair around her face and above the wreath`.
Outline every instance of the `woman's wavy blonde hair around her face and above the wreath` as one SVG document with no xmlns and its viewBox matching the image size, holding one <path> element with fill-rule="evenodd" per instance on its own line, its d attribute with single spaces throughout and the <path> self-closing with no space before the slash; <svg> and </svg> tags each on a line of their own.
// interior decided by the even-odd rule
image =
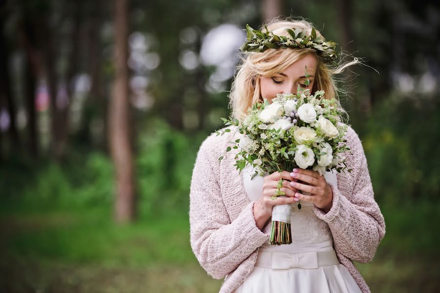
<svg viewBox="0 0 440 293">
<path fill-rule="evenodd" d="M 293 20 L 287 18 L 285 20 L 274 19 L 267 23 L 267 29 L 273 31 L 274 34 L 280 36 L 290 36 L 286 28 L 295 29 L 302 28 L 311 34 L 313 25 L 305 20 Z M 262 26 L 261 30 L 264 30 Z M 316 28 L 315 28 L 316 30 Z M 317 36 L 322 35 L 316 30 Z M 261 100 L 260 78 L 264 76 L 272 76 L 283 72 L 292 63 L 300 60 L 306 55 L 313 55 L 317 59 L 317 67 L 315 73 L 315 82 L 311 90 L 314 93 L 317 90 L 325 91 L 325 98 L 331 100 L 335 98 L 337 107 L 342 109 L 338 91 L 336 86 L 335 74 L 341 73 L 346 67 L 358 63 L 355 58 L 349 63 L 339 62 L 338 65 L 329 65 L 325 63 L 317 51 L 312 48 L 286 48 L 286 49 L 267 49 L 264 52 L 249 52 L 245 57 L 241 57 L 241 63 L 237 66 L 236 75 L 232 82 L 231 92 L 229 94 L 229 107 L 232 108 L 232 117 L 242 120 L 247 114 L 247 110 L 252 105 Z M 348 115 L 347 115 L 348 116 Z"/>
</svg>

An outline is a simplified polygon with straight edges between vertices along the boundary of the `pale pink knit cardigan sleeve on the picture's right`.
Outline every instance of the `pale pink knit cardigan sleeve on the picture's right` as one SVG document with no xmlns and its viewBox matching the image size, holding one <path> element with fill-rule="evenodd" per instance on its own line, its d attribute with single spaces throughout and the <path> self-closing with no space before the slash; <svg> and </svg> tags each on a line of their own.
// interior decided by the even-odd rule
<svg viewBox="0 0 440 293">
<path fill-rule="evenodd" d="M 329 183 L 333 191 L 333 205 L 329 212 L 314 207 L 316 215 L 329 224 L 334 248 L 361 263 L 371 261 L 385 234 L 385 222 L 374 200 L 373 186 L 368 172 L 362 143 L 349 126 L 347 144 L 352 150 L 347 165 L 348 182 L 340 189 Z"/>
</svg>

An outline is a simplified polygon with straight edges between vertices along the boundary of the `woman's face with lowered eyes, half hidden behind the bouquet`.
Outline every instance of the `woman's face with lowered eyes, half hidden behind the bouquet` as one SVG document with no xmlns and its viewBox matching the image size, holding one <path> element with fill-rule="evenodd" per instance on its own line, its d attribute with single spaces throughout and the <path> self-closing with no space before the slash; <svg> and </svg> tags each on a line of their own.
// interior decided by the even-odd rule
<svg viewBox="0 0 440 293">
<path fill-rule="evenodd" d="M 306 85 L 306 66 L 310 84 Z M 306 55 L 295 63 L 291 64 L 283 72 L 273 76 L 264 76 L 260 80 L 260 92 L 263 99 L 269 103 L 277 94 L 296 93 L 298 85 L 303 89 L 313 88 L 315 80 L 317 60 L 313 55 Z"/>
</svg>

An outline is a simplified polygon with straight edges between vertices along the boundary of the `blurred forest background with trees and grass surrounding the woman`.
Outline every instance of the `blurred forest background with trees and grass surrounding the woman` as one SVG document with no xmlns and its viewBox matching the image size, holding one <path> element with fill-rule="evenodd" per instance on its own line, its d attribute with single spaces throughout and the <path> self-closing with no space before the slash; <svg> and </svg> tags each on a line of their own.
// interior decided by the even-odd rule
<svg viewBox="0 0 440 293">
<path fill-rule="evenodd" d="M 440 9 L 410 0 L 0 0 L 0 292 L 218 292 L 189 244 L 198 147 L 246 23 L 303 16 L 367 66 L 340 85 L 387 231 L 372 292 L 439 292 Z"/>
</svg>

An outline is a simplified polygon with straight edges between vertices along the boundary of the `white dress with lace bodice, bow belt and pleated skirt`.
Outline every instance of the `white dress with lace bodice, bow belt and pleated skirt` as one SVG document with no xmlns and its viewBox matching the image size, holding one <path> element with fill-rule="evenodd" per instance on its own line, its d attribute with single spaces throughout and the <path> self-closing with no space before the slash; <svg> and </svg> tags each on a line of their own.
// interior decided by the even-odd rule
<svg viewBox="0 0 440 293">
<path fill-rule="evenodd" d="M 252 167 L 242 171 L 250 201 L 263 193 L 264 178 Z M 327 172 L 328 182 L 337 184 L 336 173 Z M 327 223 L 313 212 L 313 203 L 299 201 L 290 215 L 292 244 L 271 246 L 264 243 L 253 271 L 235 293 L 360 293 L 352 275 L 336 258 Z"/>
</svg>

